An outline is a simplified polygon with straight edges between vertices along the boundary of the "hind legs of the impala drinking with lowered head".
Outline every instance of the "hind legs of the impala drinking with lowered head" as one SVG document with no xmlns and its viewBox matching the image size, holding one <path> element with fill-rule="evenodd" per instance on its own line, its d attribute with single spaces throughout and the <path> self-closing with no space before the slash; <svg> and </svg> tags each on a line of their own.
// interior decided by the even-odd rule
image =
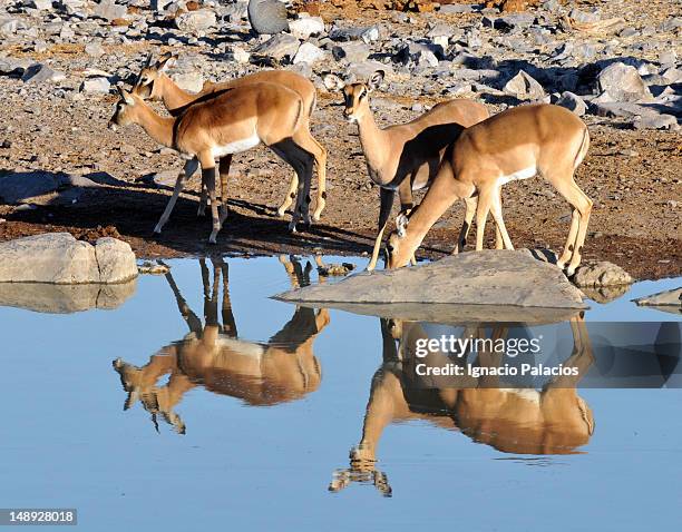
<svg viewBox="0 0 682 532">
<path fill-rule="evenodd" d="M 563 175 L 559 175 L 548 180 L 574 207 L 571 219 L 571 230 L 568 231 L 564 254 L 556 263 L 559 268 L 563 268 L 569 256 L 571 263 L 566 269 L 566 275 L 571 277 L 581 264 L 581 250 L 587 234 L 587 224 L 590 223 L 590 214 L 592 213 L 592 199 L 590 199 L 573 180 L 573 171 L 567 173 L 567 178 L 562 179 L 562 176 Z"/>
</svg>

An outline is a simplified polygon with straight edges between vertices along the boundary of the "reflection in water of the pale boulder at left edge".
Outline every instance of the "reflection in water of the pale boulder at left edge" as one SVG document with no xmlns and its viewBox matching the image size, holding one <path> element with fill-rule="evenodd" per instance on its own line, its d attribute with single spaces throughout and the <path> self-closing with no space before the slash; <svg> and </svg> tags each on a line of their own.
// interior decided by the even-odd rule
<svg viewBox="0 0 682 532">
<path fill-rule="evenodd" d="M 50 314 L 70 314 L 90 308 L 113 309 L 137 289 L 137 279 L 119 285 L 55 285 L 49 283 L 0 283 L 0 306 Z"/>
</svg>

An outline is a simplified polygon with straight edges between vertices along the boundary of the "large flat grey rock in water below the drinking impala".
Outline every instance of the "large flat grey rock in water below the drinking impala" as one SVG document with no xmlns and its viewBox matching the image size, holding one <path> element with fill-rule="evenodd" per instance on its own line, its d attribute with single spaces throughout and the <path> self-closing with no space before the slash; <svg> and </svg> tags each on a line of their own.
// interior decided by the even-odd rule
<svg viewBox="0 0 682 532">
<path fill-rule="evenodd" d="M 457 304 L 586 308 L 582 293 L 556 266 L 526 249 L 486 249 L 411 268 L 363 272 L 337 284 L 306 286 L 275 296 L 296 303 Z"/>
</svg>

